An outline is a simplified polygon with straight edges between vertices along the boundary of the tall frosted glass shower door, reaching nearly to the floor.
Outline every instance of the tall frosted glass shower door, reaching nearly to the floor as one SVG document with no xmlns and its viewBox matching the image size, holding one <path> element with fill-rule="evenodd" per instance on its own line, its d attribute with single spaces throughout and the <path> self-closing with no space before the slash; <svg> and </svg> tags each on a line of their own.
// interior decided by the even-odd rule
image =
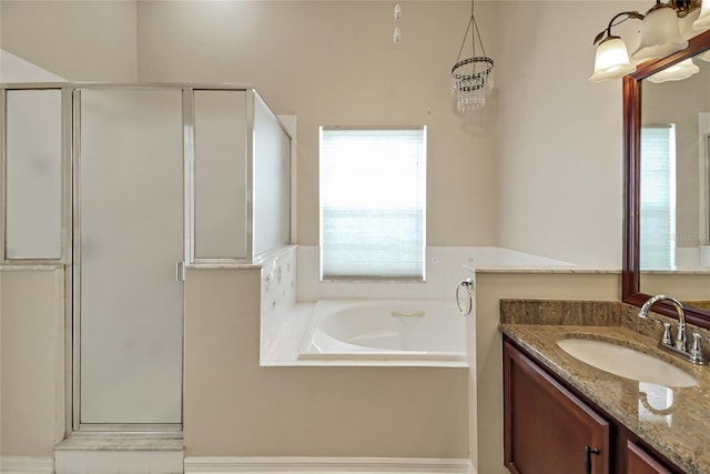
<svg viewBox="0 0 710 474">
<path fill-rule="evenodd" d="M 180 424 L 182 93 L 78 93 L 80 427 Z"/>
</svg>

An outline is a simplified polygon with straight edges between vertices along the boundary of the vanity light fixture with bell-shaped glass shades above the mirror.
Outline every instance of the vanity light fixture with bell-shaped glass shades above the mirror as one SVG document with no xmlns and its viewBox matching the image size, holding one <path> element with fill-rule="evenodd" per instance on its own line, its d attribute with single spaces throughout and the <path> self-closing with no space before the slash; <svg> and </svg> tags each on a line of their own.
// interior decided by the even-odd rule
<svg viewBox="0 0 710 474">
<path fill-rule="evenodd" d="M 661 0 L 656 0 L 656 4 L 646 14 L 638 11 L 623 11 L 616 14 L 607 28 L 595 38 L 594 44 L 598 44 L 598 48 L 595 57 L 595 72 L 589 80 L 600 82 L 621 78 L 636 71 L 636 62 L 661 58 L 686 49 L 687 33 L 681 34 L 683 18 L 700 9 L 699 17 L 692 22 L 692 28 L 683 26 L 683 31 L 692 30 L 697 34 L 698 31 L 710 28 L 710 0 L 702 0 L 702 8 L 700 1 L 669 0 L 663 3 Z M 640 44 L 629 58 L 626 42 L 611 34 L 611 28 L 630 19 L 642 20 L 642 23 Z"/>
</svg>

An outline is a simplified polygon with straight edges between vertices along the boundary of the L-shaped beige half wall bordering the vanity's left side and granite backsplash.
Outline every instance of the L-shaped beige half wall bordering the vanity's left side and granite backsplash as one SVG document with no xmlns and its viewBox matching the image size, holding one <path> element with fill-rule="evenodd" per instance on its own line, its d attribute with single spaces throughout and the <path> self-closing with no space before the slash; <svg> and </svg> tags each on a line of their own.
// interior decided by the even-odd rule
<svg viewBox="0 0 710 474">
<path fill-rule="evenodd" d="M 471 460 L 478 474 L 503 467 L 503 345 L 498 332 L 500 299 L 618 301 L 618 273 L 480 273 L 476 276 L 477 421 L 471 426 Z"/>
</svg>

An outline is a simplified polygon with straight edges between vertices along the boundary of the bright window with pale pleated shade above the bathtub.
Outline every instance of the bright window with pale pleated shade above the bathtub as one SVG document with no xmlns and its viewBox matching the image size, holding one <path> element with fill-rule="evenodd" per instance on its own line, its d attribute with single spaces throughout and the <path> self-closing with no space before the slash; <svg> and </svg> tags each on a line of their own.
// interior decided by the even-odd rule
<svg viewBox="0 0 710 474">
<path fill-rule="evenodd" d="M 426 128 L 321 128 L 321 276 L 424 280 Z"/>
</svg>

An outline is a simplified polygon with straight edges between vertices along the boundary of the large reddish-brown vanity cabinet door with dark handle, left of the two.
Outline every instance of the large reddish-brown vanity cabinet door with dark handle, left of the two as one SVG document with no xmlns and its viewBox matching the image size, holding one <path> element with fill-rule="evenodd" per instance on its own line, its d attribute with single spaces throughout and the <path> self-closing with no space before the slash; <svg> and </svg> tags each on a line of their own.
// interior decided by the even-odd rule
<svg viewBox="0 0 710 474">
<path fill-rule="evenodd" d="M 609 472 L 609 423 L 507 341 L 504 397 L 505 465 L 513 473 Z"/>
</svg>

